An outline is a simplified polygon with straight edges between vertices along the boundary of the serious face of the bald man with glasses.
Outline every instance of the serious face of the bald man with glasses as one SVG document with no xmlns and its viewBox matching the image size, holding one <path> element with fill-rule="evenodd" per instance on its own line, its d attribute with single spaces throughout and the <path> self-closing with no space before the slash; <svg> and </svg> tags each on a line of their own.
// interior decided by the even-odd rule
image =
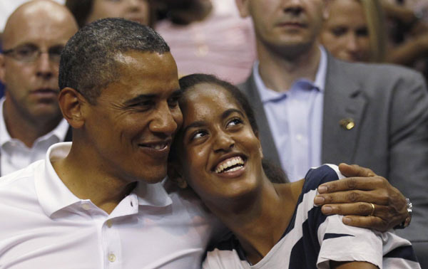
<svg viewBox="0 0 428 269">
<path fill-rule="evenodd" d="M 4 35 L 4 51 L 0 55 L 0 79 L 6 85 L 6 100 L 29 118 L 58 117 L 58 59 L 68 38 L 76 33 L 76 24 L 52 17 L 23 16 L 16 20 Z M 26 56 L 31 51 L 41 51 L 32 60 Z"/>
</svg>

